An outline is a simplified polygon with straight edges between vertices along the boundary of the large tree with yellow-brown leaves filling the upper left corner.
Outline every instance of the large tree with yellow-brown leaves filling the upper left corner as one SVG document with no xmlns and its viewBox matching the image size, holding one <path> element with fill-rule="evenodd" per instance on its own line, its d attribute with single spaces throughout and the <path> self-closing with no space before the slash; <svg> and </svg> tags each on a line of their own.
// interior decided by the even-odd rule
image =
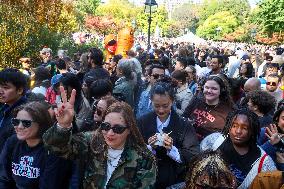
<svg viewBox="0 0 284 189">
<path fill-rule="evenodd" d="M 61 0 L 0 1 L 0 67 L 15 67 L 21 56 L 38 58 L 47 45 L 53 50 L 78 27 L 72 3 Z"/>
</svg>

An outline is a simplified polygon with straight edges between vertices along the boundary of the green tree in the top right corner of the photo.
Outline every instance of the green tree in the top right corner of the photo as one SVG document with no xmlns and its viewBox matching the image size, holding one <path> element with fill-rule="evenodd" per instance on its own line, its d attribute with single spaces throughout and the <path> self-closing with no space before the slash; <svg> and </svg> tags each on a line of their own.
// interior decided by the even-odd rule
<svg viewBox="0 0 284 189">
<path fill-rule="evenodd" d="M 274 32 L 283 32 L 284 0 L 262 0 L 252 14 L 252 21 L 270 36 Z"/>
</svg>

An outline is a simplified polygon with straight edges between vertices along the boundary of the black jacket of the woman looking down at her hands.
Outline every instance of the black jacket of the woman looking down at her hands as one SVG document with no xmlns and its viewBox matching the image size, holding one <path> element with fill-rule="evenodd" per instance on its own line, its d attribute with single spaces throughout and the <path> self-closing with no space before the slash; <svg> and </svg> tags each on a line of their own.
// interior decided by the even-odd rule
<svg viewBox="0 0 284 189">
<path fill-rule="evenodd" d="M 150 112 L 137 120 L 138 127 L 148 144 L 148 139 L 157 133 L 157 115 Z M 156 188 L 166 188 L 167 186 L 184 181 L 186 165 L 190 159 L 199 153 L 199 142 L 192 127 L 186 119 L 180 117 L 175 111 L 171 112 L 170 123 L 164 128 L 164 133 L 169 133 L 173 138 L 173 145 L 178 149 L 182 163 L 178 163 L 167 155 L 164 147 L 157 147 L 156 158 L 158 174 Z"/>
</svg>

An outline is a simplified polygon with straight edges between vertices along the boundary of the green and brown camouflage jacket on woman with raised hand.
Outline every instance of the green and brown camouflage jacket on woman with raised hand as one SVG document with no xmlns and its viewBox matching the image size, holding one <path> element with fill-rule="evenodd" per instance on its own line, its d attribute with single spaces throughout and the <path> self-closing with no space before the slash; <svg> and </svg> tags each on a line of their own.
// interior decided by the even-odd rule
<svg viewBox="0 0 284 189">
<path fill-rule="evenodd" d="M 107 145 L 99 135 L 99 131 L 72 135 L 71 131 L 54 126 L 43 139 L 47 149 L 53 153 L 67 159 L 84 160 L 84 189 L 101 189 L 107 179 Z M 154 188 L 156 162 L 147 148 L 143 148 L 135 149 L 130 141 L 126 142 L 118 166 L 105 188 Z"/>
</svg>

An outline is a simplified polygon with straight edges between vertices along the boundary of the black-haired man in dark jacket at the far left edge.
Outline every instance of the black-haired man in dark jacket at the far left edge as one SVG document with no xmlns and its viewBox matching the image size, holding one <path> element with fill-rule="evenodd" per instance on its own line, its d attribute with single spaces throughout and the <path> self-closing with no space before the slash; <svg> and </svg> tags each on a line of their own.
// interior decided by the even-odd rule
<svg viewBox="0 0 284 189">
<path fill-rule="evenodd" d="M 13 110 L 26 102 L 27 77 L 16 69 L 0 72 L 0 152 L 7 138 L 14 133 Z"/>
</svg>

